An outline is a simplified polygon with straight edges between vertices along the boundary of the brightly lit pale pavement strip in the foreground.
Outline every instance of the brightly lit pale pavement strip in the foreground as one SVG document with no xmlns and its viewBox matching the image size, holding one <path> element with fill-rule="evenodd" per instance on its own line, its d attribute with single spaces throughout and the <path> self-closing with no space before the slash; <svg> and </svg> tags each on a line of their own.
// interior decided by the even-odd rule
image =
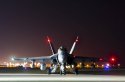
<svg viewBox="0 0 125 82">
<path fill-rule="evenodd" d="M 0 74 L 0 82 L 125 82 L 124 75 Z"/>
</svg>

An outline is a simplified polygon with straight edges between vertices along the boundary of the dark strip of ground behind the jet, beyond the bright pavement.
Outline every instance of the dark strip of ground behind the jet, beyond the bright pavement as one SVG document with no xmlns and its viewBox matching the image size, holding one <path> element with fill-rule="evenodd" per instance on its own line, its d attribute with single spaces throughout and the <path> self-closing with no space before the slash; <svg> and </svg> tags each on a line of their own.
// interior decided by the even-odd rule
<svg viewBox="0 0 125 82">
<path fill-rule="evenodd" d="M 46 74 L 47 71 L 41 71 L 39 68 L 23 68 L 23 67 L 2 67 L 0 73 L 28 73 L 28 74 Z M 59 74 L 57 71 L 54 74 Z M 69 70 L 67 74 L 73 74 Z M 90 75 L 125 75 L 125 69 L 81 69 L 79 74 L 90 74 Z"/>
</svg>

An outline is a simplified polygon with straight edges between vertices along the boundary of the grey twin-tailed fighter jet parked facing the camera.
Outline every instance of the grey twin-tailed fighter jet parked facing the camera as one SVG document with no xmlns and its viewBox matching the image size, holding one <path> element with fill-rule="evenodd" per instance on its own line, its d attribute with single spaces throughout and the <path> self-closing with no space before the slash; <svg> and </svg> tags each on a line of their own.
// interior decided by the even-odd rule
<svg viewBox="0 0 125 82">
<path fill-rule="evenodd" d="M 28 57 L 28 58 L 12 58 L 12 60 L 17 61 L 31 61 L 32 62 L 32 68 L 35 66 L 35 61 L 40 61 L 40 69 L 41 70 L 48 70 L 48 74 L 55 73 L 57 71 L 57 68 L 60 68 L 60 74 L 66 74 L 66 65 L 73 65 L 73 73 L 78 74 L 77 70 L 77 60 L 93 60 L 93 58 L 90 57 L 81 57 L 81 56 L 73 56 L 73 51 L 75 49 L 76 43 L 78 42 L 78 36 L 76 40 L 74 41 L 70 52 L 67 51 L 67 49 L 63 46 L 60 46 L 58 48 L 58 51 L 55 52 L 55 49 L 53 47 L 52 42 L 50 41 L 50 38 L 47 36 L 49 46 L 52 51 L 52 55 L 50 56 L 41 56 L 41 57 Z M 95 58 L 94 58 L 95 60 Z M 97 59 L 98 60 L 98 59 Z M 51 66 L 49 69 L 46 68 L 46 61 L 51 61 Z"/>
</svg>

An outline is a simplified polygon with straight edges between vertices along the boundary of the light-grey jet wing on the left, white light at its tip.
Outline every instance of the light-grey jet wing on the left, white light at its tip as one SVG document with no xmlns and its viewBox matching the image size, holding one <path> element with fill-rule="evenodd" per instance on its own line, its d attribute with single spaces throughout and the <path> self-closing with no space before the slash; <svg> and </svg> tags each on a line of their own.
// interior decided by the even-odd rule
<svg viewBox="0 0 125 82">
<path fill-rule="evenodd" d="M 57 54 L 53 54 L 51 56 L 41 56 L 41 57 L 26 57 L 26 58 L 12 58 L 13 61 L 50 61 L 52 59 L 55 59 L 57 57 Z"/>
</svg>

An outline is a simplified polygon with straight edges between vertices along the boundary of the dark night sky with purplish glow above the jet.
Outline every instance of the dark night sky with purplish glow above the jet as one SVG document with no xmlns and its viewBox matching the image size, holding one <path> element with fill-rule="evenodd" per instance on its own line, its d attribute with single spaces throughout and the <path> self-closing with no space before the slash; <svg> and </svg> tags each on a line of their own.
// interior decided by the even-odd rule
<svg viewBox="0 0 125 82">
<path fill-rule="evenodd" d="M 46 36 L 57 50 L 109 58 L 125 65 L 125 2 L 115 0 L 1 0 L 0 60 L 51 55 Z"/>
</svg>

